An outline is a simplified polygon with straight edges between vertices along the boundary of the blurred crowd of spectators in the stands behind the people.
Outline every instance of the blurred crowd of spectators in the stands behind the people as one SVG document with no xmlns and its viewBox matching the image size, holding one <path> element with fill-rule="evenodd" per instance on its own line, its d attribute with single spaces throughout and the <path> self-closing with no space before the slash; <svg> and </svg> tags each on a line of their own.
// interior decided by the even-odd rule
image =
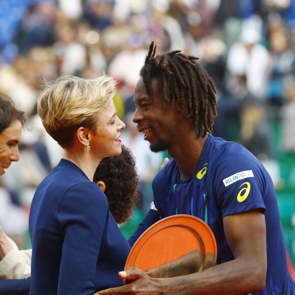
<svg viewBox="0 0 295 295">
<path fill-rule="evenodd" d="M 131 234 L 150 208 L 151 181 L 167 156 L 152 154 L 132 122 L 133 87 L 151 41 L 158 52 L 198 56 L 213 78 L 213 135 L 240 142 L 270 172 L 295 264 L 295 0 L 0 0 L 0 91 L 29 119 L 20 161 L 1 178 L 0 224 L 20 248 L 31 247 L 34 191 L 62 156 L 37 115 L 42 85 L 105 72 L 118 81 L 122 143 L 140 180 L 141 204 L 121 227 Z"/>
</svg>

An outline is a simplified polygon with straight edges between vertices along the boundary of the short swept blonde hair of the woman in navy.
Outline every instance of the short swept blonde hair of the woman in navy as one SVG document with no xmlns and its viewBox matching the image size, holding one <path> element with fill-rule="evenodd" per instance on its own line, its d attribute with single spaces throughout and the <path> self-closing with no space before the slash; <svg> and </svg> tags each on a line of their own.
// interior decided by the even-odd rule
<svg viewBox="0 0 295 295">
<path fill-rule="evenodd" d="M 72 145 L 83 126 L 95 132 L 98 111 L 116 93 L 116 81 L 63 76 L 45 85 L 38 98 L 38 114 L 47 133 L 63 148 Z"/>
</svg>

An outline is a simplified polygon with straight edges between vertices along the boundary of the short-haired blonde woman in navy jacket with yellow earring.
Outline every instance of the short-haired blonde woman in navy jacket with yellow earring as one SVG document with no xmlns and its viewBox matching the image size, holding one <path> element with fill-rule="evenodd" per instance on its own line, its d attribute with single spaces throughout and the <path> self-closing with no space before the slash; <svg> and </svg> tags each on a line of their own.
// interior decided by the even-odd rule
<svg viewBox="0 0 295 295">
<path fill-rule="evenodd" d="M 100 161 L 121 154 L 120 131 L 109 76 L 65 76 L 45 87 L 38 113 L 46 131 L 64 149 L 60 163 L 33 198 L 31 289 L 40 294 L 94 294 L 122 285 L 130 245 L 93 183 Z"/>
</svg>

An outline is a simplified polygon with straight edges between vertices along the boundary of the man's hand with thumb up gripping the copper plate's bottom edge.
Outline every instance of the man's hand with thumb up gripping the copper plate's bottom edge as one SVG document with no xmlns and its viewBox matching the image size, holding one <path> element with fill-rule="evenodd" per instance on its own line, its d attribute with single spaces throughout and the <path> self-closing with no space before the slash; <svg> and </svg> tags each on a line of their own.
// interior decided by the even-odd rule
<svg viewBox="0 0 295 295">
<path fill-rule="evenodd" d="M 161 288 L 159 283 L 160 279 L 150 278 L 146 273 L 141 270 L 124 271 L 119 273 L 120 277 L 132 281 L 122 287 L 109 288 L 103 291 L 99 291 L 96 295 L 120 295 L 120 294 L 169 294 L 169 291 L 165 291 L 165 288 Z M 161 290 L 155 292 L 155 290 Z"/>
</svg>

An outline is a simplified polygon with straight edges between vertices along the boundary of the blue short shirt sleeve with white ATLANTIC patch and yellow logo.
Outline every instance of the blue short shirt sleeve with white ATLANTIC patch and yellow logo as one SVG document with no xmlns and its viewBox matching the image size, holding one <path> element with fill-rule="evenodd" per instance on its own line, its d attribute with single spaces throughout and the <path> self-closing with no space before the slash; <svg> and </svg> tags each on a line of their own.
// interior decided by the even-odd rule
<svg viewBox="0 0 295 295">
<path fill-rule="evenodd" d="M 213 195 L 222 216 L 261 208 L 265 210 L 264 192 L 267 171 L 248 151 L 219 155 L 221 161 L 214 169 Z"/>
</svg>

